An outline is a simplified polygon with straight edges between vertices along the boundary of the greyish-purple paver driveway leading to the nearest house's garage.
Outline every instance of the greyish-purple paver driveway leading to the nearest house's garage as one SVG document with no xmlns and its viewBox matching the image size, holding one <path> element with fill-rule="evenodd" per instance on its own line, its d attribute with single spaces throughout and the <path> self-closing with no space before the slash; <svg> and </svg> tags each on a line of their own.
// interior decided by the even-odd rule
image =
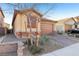
<svg viewBox="0 0 79 59">
<path fill-rule="evenodd" d="M 72 45 L 74 43 L 77 43 L 79 41 L 76 41 L 76 40 L 72 40 L 71 37 L 69 36 L 65 36 L 65 35 L 59 35 L 59 34 L 56 34 L 54 36 L 49 36 L 49 38 L 51 40 L 55 40 L 57 43 L 59 43 L 60 45 L 62 45 L 63 47 L 65 46 L 69 46 L 69 45 Z M 74 38 L 75 39 L 75 38 Z"/>
</svg>

